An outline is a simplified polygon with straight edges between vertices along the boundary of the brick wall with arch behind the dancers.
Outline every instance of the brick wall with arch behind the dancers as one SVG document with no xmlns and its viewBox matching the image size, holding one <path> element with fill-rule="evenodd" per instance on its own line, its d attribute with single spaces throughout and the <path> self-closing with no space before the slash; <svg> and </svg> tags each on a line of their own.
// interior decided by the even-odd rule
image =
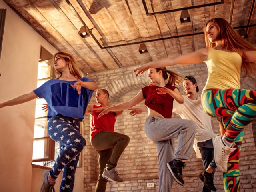
<svg viewBox="0 0 256 192">
<path fill-rule="evenodd" d="M 88 74 L 87 76 L 100 86 L 110 92 L 110 104 L 116 104 L 130 100 L 135 96 L 140 88 L 148 84 L 147 72 L 143 75 L 134 76 L 133 70 L 136 67 L 120 68 L 117 70 L 108 70 Z M 184 76 L 194 76 L 198 82 L 200 93 L 207 79 L 207 68 L 204 63 L 190 66 L 174 66 L 170 68 L 174 72 L 178 72 Z M 252 78 L 243 78 L 241 81 L 242 88 L 256 88 L 256 81 Z M 182 93 L 182 87 L 180 87 Z M 95 98 L 92 98 L 92 103 L 95 103 Z M 144 102 L 139 104 L 144 105 Z M 122 184 L 108 183 L 106 191 L 143 191 L 155 192 L 158 191 L 158 160 L 156 146 L 150 141 L 144 133 L 144 121 L 146 113 L 136 116 L 130 116 L 129 111 L 124 111 L 118 116 L 115 131 L 127 134 L 130 137 L 130 143 L 118 161 L 116 170 L 125 179 Z M 179 118 L 174 115 L 173 118 Z M 84 136 L 87 141 L 87 146 L 84 149 L 84 191 L 94 191 L 96 179 L 98 176 L 98 156 L 90 145 L 89 136 L 90 116 L 86 115 L 84 120 Z M 214 132 L 218 133 L 218 122 L 212 118 L 212 126 Z M 241 155 L 241 184 L 240 192 L 256 191 L 256 147 L 255 135 L 256 130 L 252 130 L 250 124 L 244 134 Z M 176 141 L 177 142 L 177 141 Z M 172 192 L 199 192 L 202 191 L 202 182 L 197 178 L 197 173 L 202 170 L 202 160 L 197 159 L 193 151 L 190 160 L 186 162 L 184 169 L 185 185 L 181 187 L 174 182 Z M 154 183 L 154 187 L 148 188 L 147 183 Z M 222 184 L 222 173 L 217 170 L 214 178 L 214 183 L 218 191 L 224 191 Z"/>
</svg>

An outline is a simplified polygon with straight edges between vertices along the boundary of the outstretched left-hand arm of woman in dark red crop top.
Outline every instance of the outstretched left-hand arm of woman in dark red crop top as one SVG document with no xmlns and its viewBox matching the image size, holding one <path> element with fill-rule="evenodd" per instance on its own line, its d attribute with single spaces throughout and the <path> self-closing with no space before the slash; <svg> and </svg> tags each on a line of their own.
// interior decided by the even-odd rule
<svg viewBox="0 0 256 192">
<path fill-rule="evenodd" d="M 124 103 L 106 108 L 104 111 L 102 111 L 99 114 L 98 118 L 100 118 L 104 114 L 107 114 L 110 111 L 121 111 L 121 110 L 129 109 L 137 105 L 138 103 L 142 102 L 143 100 L 144 98 L 143 98 L 142 90 L 140 90 L 140 92 L 138 92 L 138 94 L 128 102 L 124 102 Z"/>
</svg>

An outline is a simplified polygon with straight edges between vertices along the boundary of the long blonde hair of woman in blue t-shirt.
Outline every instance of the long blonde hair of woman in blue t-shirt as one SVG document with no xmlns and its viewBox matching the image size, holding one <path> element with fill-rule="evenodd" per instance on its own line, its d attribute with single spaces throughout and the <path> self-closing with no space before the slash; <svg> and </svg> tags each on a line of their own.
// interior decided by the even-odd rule
<svg viewBox="0 0 256 192">
<path fill-rule="evenodd" d="M 81 72 L 78 69 L 76 62 L 75 62 L 74 58 L 72 57 L 72 55 L 70 55 L 66 52 L 58 52 L 58 53 L 54 54 L 53 60 L 55 59 L 55 57 L 57 55 L 61 58 L 64 58 L 64 60 L 66 62 L 68 62 L 68 68 L 70 70 L 70 73 L 73 76 L 77 76 L 79 79 L 82 78 Z M 55 75 L 56 75 L 56 79 L 59 79 L 62 76 L 62 73 L 55 70 Z"/>
</svg>

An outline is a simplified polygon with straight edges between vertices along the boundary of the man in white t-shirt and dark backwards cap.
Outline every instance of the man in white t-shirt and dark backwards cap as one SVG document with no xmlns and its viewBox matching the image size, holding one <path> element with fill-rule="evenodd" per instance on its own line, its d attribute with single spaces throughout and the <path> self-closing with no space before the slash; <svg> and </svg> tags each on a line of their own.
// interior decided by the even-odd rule
<svg viewBox="0 0 256 192">
<path fill-rule="evenodd" d="M 184 103 L 179 104 L 174 100 L 173 111 L 182 119 L 192 120 L 197 125 L 196 138 L 194 142 L 194 149 L 196 157 L 202 157 L 204 171 L 198 174 L 198 177 L 204 182 L 203 192 L 216 191 L 213 178 L 216 168 L 214 162 L 214 149 L 212 145 L 212 138 L 216 135 L 212 130 L 211 118 L 202 109 L 199 91 L 196 79 L 192 76 L 186 76 L 183 81 L 183 88 L 186 95 L 183 95 Z M 132 108 L 130 114 L 132 116 L 141 112 L 147 112 L 144 107 Z"/>
</svg>

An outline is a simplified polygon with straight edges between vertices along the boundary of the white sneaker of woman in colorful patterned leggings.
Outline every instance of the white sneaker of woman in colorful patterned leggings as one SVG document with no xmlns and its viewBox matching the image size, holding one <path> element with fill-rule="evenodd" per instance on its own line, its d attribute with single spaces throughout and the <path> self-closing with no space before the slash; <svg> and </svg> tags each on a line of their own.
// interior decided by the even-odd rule
<svg viewBox="0 0 256 192">
<path fill-rule="evenodd" d="M 214 148 L 214 160 L 216 166 L 224 173 L 228 171 L 228 158 L 231 152 L 236 148 L 230 148 L 224 144 L 221 135 L 216 135 L 212 138 L 212 144 Z M 232 144 L 233 146 L 233 144 Z"/>
</svg>

